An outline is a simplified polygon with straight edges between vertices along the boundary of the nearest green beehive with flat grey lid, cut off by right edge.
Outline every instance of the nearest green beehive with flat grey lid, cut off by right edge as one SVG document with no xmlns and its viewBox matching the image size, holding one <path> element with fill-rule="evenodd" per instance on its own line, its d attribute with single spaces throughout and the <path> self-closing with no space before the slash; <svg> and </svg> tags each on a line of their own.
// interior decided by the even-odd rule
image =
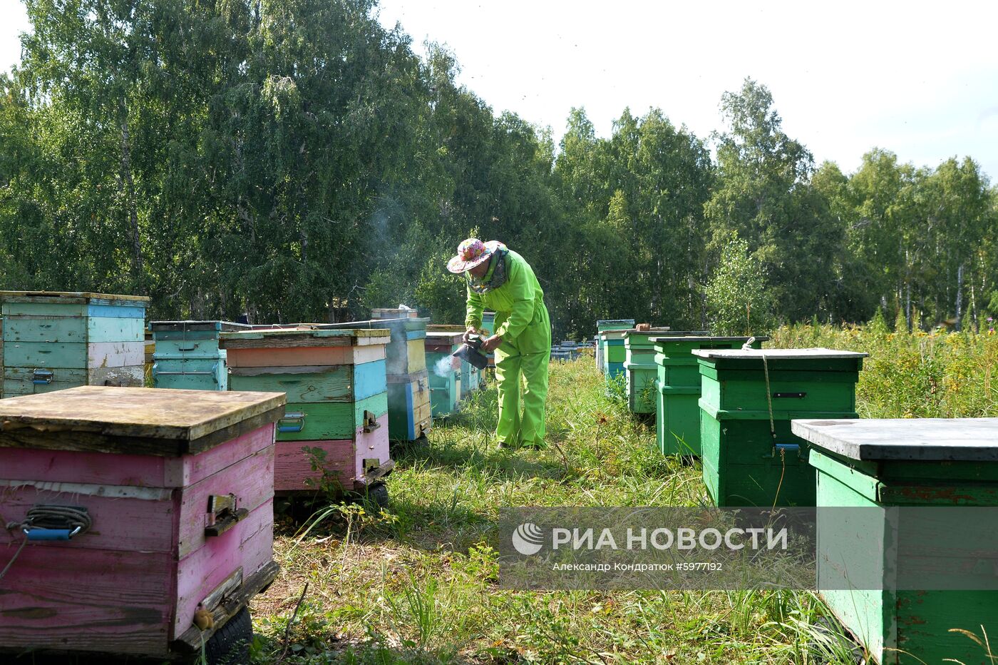
<svg viewBox="0 0 998 665">
<path fill-rule="evenodd" d="M 810 443 L 819 508 L 939 506 L 931 514 L 946 519 L 953 511 L 948 521 L 955 524 L 968 519 L 961 507 L 998 506 L 998 418 L 794 420 L 791 430 Z M 959 631 L 987 634 L 992 645 L 998 635 L 993 525 L 981 524 L 981 537 L 991 540 L 980 554 L 983 565 L 961 571 L 969 573 L 963 586 L 969 590 L 906 590 L 893 583 L 911 574 L 904 572 L 912 560 L 911 548 L 903 546 L 910 542 L 905 529 L 918 538 L 924 512 L 917 513 L 917 524 L 897 511 L 864 511 L 871 516 L 859 520 L 824 517 L 829 512 L 818 511 L 818 588 L 876 662 L 991 662 L 982 646 Z M 973 519 L 979 512 L 970 514 Z M 946 548 L 946 575 L 960 568 L 954 550 L 976 548 L 939 540 Z M 928 575 L 938 572 L 928 569 L 916 586 L 931 584 Z M 879 584 L 869 584 L 871 579 Z M 866 588 L 871 586 L 876 588 Z"/>
</svg>

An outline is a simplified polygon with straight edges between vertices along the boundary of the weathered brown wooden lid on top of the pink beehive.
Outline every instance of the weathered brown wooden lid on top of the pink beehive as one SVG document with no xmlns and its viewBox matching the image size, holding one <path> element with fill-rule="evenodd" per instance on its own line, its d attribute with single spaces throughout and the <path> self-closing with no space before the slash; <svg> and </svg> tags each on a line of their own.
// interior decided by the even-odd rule
<svg viewBox="0 0 998 665">
<path fill-rule="evenodd" d="M 82 385 L 0 399 L 0 446 L 176 456 L 274 422 L 283 392 Z"/>
</svg>

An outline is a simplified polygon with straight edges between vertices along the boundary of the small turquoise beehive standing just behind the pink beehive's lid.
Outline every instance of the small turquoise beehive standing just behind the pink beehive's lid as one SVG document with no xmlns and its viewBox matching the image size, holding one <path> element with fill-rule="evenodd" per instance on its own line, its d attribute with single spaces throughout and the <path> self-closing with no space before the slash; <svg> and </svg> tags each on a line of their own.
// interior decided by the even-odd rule
<svg viewBox="0 0 998 665">
<path fill-rule="evenodd" d="M 228 390 L 226 350 L 219 335 L 250 330 L 223 321 L 161 321 L 149 325 L 155 340 L 154 387 Z"/>
</svg>

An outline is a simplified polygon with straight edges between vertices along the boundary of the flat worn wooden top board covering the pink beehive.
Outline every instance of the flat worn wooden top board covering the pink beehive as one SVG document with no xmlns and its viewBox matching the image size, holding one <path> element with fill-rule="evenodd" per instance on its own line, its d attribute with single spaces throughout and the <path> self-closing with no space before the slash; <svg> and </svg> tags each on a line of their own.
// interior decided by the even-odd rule
<svg viewBox="0 0 998 665">
<path fill-rule="evenodd" d="M 31 429 L 193 441 L 283 402 L 283 394 L 272 392 L 84 385 L 0 401 L 0 430 L 4 434 Z"/>
</svg>

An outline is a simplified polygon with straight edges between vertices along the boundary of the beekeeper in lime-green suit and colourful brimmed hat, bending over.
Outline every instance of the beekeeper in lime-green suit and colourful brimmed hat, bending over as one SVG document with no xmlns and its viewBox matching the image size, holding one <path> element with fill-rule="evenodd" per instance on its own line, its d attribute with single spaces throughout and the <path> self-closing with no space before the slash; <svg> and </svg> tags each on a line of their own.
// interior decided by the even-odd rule
<svg viewBox="0 0 998 665">
<path fill-rule="evenodd" d="M 496 313 L 495 332 L 482 350 L 495 351 L 499 390 L 500 447 L 544 446 L 544 401 L 548 396 L 551 320 L 544 291 L 523 257 L 502 243 L 469 238 L 457 248 L 447 270 L 464 275 L 468 288 L 464 339 L 479 333 L 482 311 Z M 520 414 L 520 376 L 523 414 Z"/>
</svg>

